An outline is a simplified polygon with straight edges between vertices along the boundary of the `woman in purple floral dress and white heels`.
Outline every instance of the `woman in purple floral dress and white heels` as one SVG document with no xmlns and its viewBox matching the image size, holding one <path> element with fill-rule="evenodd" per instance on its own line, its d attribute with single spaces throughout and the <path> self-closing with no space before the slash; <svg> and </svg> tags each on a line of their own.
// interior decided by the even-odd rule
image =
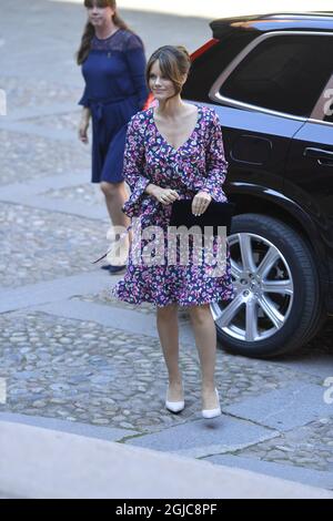
<svg viewBox="0 0 333 521">
<path fill-rule="evenodd" d="M 228 163 L 219 118 L 213 110 L 181 99 L 190 65 L 185 49 L 171 45 L 155 51 L 148 63 L 148 84 L 159 105 L 131 119 L 123 171 L 132 191 L 123 211 L 139 223 L 143 241 L 135 241 L 134 226 L 128 269 L 113 295 L 131 304 L 157 306 L 157 325 L 169 372 L 165 406 L 172 412 L 184 408 L 178 307 L 188 306 L 202 370 L 202 413 L 213 418 L 221 415 L 221 409 L 214 381 L 216 331 L 210 304 L 233 298 L 229 253 L 221 276 L 212 276 L 204 264 L 189 260 L 186 265 L 174 265 L 167 258 L 174 201 L 192 200 L 195 215 L 203 214 L 212 200 L 226 202 L 222 185 Z M 157 255 L 158 262 L 145 263 L 141 254 L 149 238 L 143 231 L 151 226 L 162 229 L 162 239 L 158 234 L 150 238 L 160 246 L 162 241 L 165 248 L 162 257 Z"/>
</svg>

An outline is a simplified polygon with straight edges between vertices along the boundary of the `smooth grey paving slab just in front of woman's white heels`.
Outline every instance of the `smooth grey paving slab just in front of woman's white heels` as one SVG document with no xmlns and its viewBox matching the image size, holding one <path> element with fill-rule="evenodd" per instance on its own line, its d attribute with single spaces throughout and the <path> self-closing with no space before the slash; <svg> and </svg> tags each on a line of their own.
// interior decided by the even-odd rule
<svg viewBox="0 0 333 521">
<path fill-rule="evenodd" d="M 260 441 L 269 440 L 279 432 L 248 421 L 223 415 L 213 420 L 198 420 L 162 432 L 130 440 L 130 445 L 147 449 L 175 452 L 202 458 L 214 453 L 233 452 Z"/>
</svg>

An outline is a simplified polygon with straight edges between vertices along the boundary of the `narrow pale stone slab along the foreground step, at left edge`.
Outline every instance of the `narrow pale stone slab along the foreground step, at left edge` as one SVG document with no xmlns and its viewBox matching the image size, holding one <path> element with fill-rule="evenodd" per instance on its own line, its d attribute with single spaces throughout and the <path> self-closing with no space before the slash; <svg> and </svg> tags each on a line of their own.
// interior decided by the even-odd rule
<svg viewBox="0 0 333 521">
<path fill-rule="evenodd" d="M 97 438 L 100 440 L 120 441 L 128 436 L 135 436 L 139 432 L 128 429 L 118 429 L 111 427 L 98 427 L 89 423 L 77 421 L 58 420 L 56 418 L 42 418 L 37 416 L 13 415 L 10 412 L 0 412 L 0 430 L 1 421 L 10 423 L 20 423 L 32 427 L 40 427 L 52 431 L 68 432 L 71 435 L 85 436 L 88 438 Z"/>
</svg>

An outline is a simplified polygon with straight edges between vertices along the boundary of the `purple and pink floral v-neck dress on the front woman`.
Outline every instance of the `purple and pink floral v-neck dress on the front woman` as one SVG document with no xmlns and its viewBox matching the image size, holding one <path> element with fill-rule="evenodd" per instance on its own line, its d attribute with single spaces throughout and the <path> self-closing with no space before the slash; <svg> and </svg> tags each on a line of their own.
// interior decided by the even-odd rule
<svg viewBox="0 0 333 521">
<path fill-rule="evenodd" d="M 165 206 L 145 193 L 152 183 L 175 190 L 180 198 L 192 200 L 198 192 L 206 192 L 214 201 L 226 202 L 223 183 L 228 163 L 218 114 L 209 108 L 198 106 L 193 132 L 175 150 L 159 132 L 153 111 L 139 112 L 128 125 L 123 175 L 131 188 L 131 197 L 123 211 L 139 221 L 141 234 L 150 226 L 159 226 L 163 231 L 165 254 L 155 265 L 138 262 L 138 258 L 142 259 L 140 255 L 149 239 L 143 239 L 142 246 L 134 236 L 127 273 L 112 294 L 130 304 L 152 303 L 159 307 L 231 300 L 233 286 L 229 249 L 221 276 L 211 276 L 204 263 L 191 262 L 191 255 L 186 265 L 170 264 L 167 254 L 172 205 Z"/>
</svg>

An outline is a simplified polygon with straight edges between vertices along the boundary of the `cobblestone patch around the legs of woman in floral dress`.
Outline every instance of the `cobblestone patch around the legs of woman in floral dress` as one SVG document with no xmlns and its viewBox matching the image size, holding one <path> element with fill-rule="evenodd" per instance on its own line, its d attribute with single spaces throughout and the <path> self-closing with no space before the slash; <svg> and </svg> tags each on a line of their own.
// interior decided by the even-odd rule
<svg viewBox="0 0 333 521">
<path fill-rule="evenodd" d="M 30 311 L 1 316 L 0 328 L 1 377 L 8 382 L 3 411 L 135 430 L 189 421 L 200 411 L 193 346 L 181 349 L 189 407 L 174 417 L 163 407 L 167 374 L 157 339 Z M 216 381 L 224 406 L 283 388 L 294 378 L 289 368 L 273 370 L 256 360 L 244 364 L 239 357 L 218 355 Z M 300 379 L 317 381 L 304 375 Z"/>
</svg>

